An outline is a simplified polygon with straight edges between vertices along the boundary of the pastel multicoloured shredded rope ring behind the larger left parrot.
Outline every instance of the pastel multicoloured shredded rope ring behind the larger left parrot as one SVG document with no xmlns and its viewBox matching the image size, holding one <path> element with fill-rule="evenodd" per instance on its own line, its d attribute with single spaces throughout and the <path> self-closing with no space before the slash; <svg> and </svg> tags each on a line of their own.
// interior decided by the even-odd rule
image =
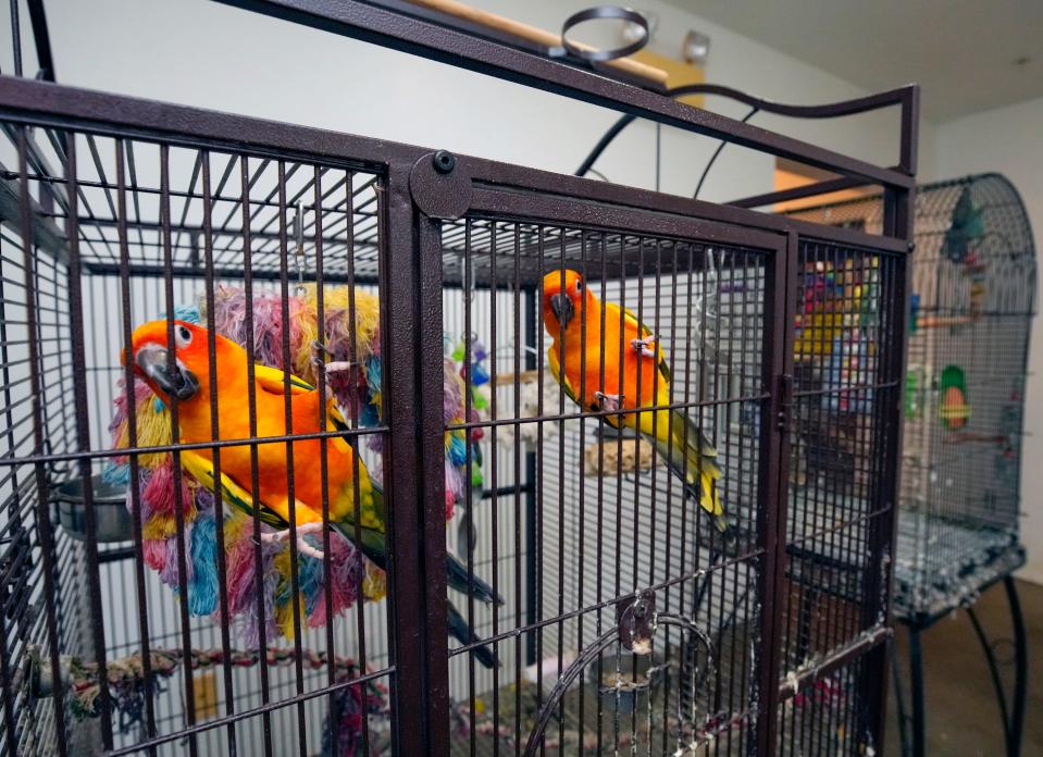
<svg viewBox="0 0 1043 757">
<path fill-rule="evenodd" d="M 353 299 L 353 302 L 351 301 Z M 355 323 L 351 323 L 353 305 Z M 283 359 L 283 298 L 277 291 L 256 291 L 252 298 L 253 351 L 259 363 L 282 368 Z M 316 382 L 312 361 L 313 344 L 319 335 L 316 287 L 306 285 L 288 298 L 289 313 L 289 364 L 296 375 L 307 382 Z M 245 345 L 250 330 L 246 322 L 246 294 L 240 288 L 220 286 L 214 293 L 214 330 L 240 345 Z M 381 353 L 380 353 L 380 303 L 377 298 L 363 290 L 353 293 L 346 286 L 327 286 L 323 293 L 324 336 L 330 360 L 352 363 L 350 371 L 328 374 L 330 387 L 346 418 L 357 418 L 359 425 L 374 426 L 381 422 Z M 174 318 L 191 323 L 208 322 L 206 302 L 200 297 L 196 305 L 175 309 Z M 353 351 L 353 355 L 352 355 Z M 445 370 L 445 420 L 460 423 L 464 415 L 464 385 L 458 367 L 446 360 Z M 127 393 L 120 382 L 115 399 L 115 413 L 109 430 L 114 448 L 129 446 L 128 395 L 134 397 L 136 418 L 136 444 L 138 447 L 169 445 L 171 443 L 170 411 L 145 382 L 133 382 Z M 473 409 L 473 408 L 472 408 Z M 477 417 L 472 413 L 472 420 Z M 373 434 L 365 443 L 376 457 L 369 464 L 371 475 L 380 481 L 380 452 L 383 437 Z M 476 439 L 474 439 L 476 442 Z M 472 450 L 473 451 L 473 450 Z M 477 458 L 480 459 L 480 458 Z M 452 514 L 454 504 L 463 493 L 463 475 L 467 462 L 467 436 L 457 431 L 446 434 L 446 517 Z M 479 463 L 472 455 L 473 469 Z M 179 585 L 177 569 L 176 513 L 177 497 L 174 492 L 173 461 L 170 452 L 157 451 L 138 456 L 139 506 L 144 536 L 145 561 L 157 571 L 163 583 L 175 592 Z M 481 473 L 479 473 L 481 475 Z M 105 479 L 112 483 L 129 484 L 127 457 L 114 457 L 105 470 Z M 188 610 L 193 616 L 211 616 L 222 622 L 219 610 L 216 525 L 214 522 L 214 497 L 200 486 L 187 472 L 182 475 L 185 544 L 187 560 L 185 584 L 188 590 Z M 127 508 L 132 509 L 131 493 Z M 261 564 L 257 564 L 257 546 L 253 543 L 253 520 L 234 508 L 225 508 L 224 556 L 226 563 L 226 588 L 228 597 L 227 622 L 244 644 L 257 646 L 260 638 L 257 600 L 257 571 L 260 569 L 264 585 L 264 637 L 294 635 L 294 596 L 290 575 L 290 551 L 287 543 L 261 545 Z M 268 525 L 261 529 L 269 531 Z M 309 536 L 318 544 L 320 536 Z M 375 601 L 386 593 L 385 576 L 381 569 L 363 558 L 353 545 L 336 532 L 330 533 L 332 575 L 330 580 L 332 607 L 326 607 L 325 575 L 322 560 L 305 554 L 298 555 L 298 583 L 302 620 L 307 628 L 325 624 L 327 615 L 337 616 L 351 608 L 360 599 Z M 361 597 L 360 595 L 361 587 Z"/>
</svg>

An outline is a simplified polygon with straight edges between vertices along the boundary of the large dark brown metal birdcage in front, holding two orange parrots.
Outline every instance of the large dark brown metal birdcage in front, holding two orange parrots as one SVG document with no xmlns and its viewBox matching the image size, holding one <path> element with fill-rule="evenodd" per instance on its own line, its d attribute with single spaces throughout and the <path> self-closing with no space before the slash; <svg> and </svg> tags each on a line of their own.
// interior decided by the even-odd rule
<svg viewBox="0 0 1043 757">
<path fill-rule="evenodd" d="M 232 4 L 879 186 L 882 226 L 0 77 L 0 754 L 879 749 L 916 88 L 793 113 L 899 108 L 881 169 L 429 12 Z"/>
</svg>

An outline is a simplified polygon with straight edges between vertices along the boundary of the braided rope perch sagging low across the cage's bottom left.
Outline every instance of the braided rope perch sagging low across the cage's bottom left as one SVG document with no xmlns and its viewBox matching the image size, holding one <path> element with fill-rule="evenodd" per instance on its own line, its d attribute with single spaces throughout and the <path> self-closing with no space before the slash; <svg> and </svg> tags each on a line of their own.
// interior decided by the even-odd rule
<svg viewBox="0 0 1043 757">
<path fill-rule="evenodd" d="M 191 669 L 202 670 L 221 666 L 227 659 L 236 668 L 249 668 L 260 663 L 261 655 L 257 649 L 229 650 L 227 657 L 221 649 L 191 649 Z M 152 649 L 149 654 L 153 692 L 158 692 L 162 681 L 178 674 L 182 670 L 182 649 Z M 301 665 L 307 670 L 326 670 L 328 656 L 324 651 L 303 649 L 300 653 Z M 66 658 L 69 666 L 70 710 L 76 720 L 97 718 L 101 713 L 101 685 L 98 681 L 98 663 L 79 657 Z M 269 647 L 265 661 L 270 667 L 285 667 L 297 661 L 294 649 Z M 337 683 L 355 681 L 362 671 L 352 659 L 335 657 L 333 660 Z M 145 707 L 146 677 L 145 661 L 140 654 L 109 660 L 109 695 L 113 707 L 120 715 L 120 730 L 127 733 L 141 721 Z M 387 688 L 374 679 L 344 686 L 337 690 L 335 698 L 337 722 L 336 750 L 326 750 L 328 755 L 355 755 L 363 731 L 364 717 L 387 717 L 389 713 Z M 328 723 L 323 741 L 328 743 L 333 729 Z"/>
</svg>

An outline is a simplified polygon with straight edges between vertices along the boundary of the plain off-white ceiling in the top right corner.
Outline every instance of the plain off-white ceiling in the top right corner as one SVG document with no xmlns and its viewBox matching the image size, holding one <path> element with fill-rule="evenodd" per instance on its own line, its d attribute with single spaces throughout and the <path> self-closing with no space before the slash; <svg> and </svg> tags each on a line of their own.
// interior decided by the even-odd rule
<svg viewBox="0 0 1043 757">
<path fill-rule="evenodd" d="M 1043 96 L 1043 0 L 667 1 L 867 89 L 917 82 L 938 122 Z"/>
</svg>

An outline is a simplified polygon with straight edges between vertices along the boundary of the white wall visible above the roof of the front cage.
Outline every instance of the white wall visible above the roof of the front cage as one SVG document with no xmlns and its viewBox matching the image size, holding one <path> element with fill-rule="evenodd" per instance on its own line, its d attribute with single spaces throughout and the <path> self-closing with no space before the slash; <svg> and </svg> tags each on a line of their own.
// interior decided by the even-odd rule
<svg viewBox="0 0 1043 757">
<path fill-rule="evenodd" d="M 555 29 L 589 3 L 475 4 Z M 690 28 L 710 35 L 707 73 L 712 82 L 798 103 L 866 94 L 678 8 L 653 0 L 644 7 L 659 14 L 653 48 L 660 52 L 676 54 Z M 47 10 L 59 80 L 70 85 L 562 172 L 574 171 L 616 119 L 616 113 L 593 106 L 204 0 L 49 0 Z M 0 30 L 0 50 L 10 49 L 2 36 L 8 34 Z M 25 36 L 28 40 L 27 28 Z M 0 65 L 10 71 L 8 60 Z M 746 111 L 719 99 L 708 106 L 737 116 Z M 897 156 L 896 112 L 808 123 L 757 116 L 754 123 L 786 128 L 794 136 L 881 163 L 893 163 Z M 932 129 L 924 132 L 929 142 Z M 707 138 L 663 129 L 662 188 L 691 194 L 715 148 Z M 598 167 L 614 182 L 653 187 L 654 154 L 655 128 L 637 125 L 617 140 Z M 729 148 L 703 196 L 725 200 L 766 191 L 771 188 L 772 169 L 770 156 Z"/>
</svg>

